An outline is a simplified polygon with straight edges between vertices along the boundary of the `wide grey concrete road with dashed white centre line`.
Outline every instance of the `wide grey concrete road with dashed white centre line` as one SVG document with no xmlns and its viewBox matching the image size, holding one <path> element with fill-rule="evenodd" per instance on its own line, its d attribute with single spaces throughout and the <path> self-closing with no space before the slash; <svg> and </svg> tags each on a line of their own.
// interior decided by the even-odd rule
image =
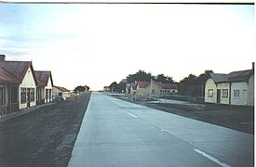
<svg viewBox="0 0 256 167">
<path fill-rule="evenodd" d="M 253 138 L 94 92 L 69 166 L 253 166 Z"/>
</svg>

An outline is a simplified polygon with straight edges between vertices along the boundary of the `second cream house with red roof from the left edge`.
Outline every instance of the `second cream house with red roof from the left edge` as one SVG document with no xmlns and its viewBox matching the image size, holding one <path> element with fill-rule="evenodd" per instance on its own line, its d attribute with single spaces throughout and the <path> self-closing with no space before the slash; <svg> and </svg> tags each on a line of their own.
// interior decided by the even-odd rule
<svg viewBox="0 0 256 167">
<path fill-rule="evenodd" d="M 51 71 L 34 71 L 37 81 L 36 104 L 45 104 L 52 101 L 53 80 Z"/>
</svg>

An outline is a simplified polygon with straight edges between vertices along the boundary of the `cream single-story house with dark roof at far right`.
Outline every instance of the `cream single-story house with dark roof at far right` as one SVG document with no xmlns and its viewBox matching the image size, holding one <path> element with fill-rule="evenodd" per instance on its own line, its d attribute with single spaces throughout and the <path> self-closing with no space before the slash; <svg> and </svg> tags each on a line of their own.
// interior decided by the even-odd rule
<svg viewBox="0 0 256 167">
<path fill-rule="evenodd" d="M 254 64 L 252 70 L 210 73 L 205 86 L 205 102 L 254 106 Z"/>
</svg>

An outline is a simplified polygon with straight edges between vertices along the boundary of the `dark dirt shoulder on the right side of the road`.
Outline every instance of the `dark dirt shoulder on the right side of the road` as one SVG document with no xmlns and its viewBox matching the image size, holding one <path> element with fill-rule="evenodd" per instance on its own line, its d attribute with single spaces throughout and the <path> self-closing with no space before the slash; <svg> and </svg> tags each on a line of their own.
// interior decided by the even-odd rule
<svg viewBox="0 0 256 167">
<path fill-rule="evenodd" d="M 237 131 L 254 134 L 254 108 L 218 104 L 193 104 L 186 102 L 155 103 L 152 101 L 134 101 L 126 96 L 116 96 L 120 99 L 141 104 L 153 109 L 209 122 Z"/>
</svg>

